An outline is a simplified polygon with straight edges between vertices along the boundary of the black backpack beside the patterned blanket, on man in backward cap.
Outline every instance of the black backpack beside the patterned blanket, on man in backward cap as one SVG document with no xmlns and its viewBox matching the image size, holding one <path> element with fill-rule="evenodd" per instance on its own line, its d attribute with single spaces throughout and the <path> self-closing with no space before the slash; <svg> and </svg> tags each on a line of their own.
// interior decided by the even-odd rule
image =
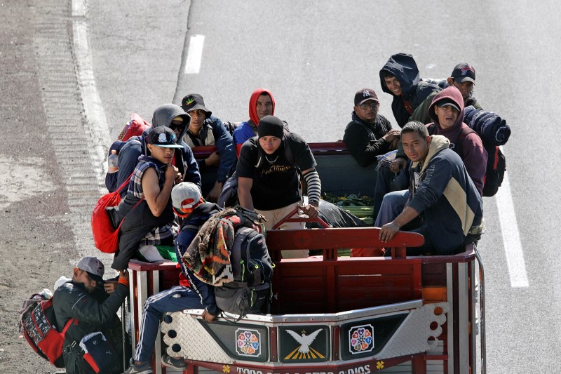
<svg viewBox="0 0 561 374">
<path fill-rule="evenodd" d="M 273 261 L 265 237 L 250 227 L 240 227 L 230 253 L 234 281 L 215 287 L 216 305 L 224 312 L 238 314 L 269 312 Z"/>
</svg>

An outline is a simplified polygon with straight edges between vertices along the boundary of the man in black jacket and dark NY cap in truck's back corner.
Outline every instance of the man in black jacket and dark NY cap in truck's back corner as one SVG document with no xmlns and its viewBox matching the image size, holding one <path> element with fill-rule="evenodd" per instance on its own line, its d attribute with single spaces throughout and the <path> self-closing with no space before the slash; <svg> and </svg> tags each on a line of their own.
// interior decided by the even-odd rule
<svg viewBox="0 0 561 374">
<path fill-rule="evenodd" d="M 345 128 L 343 141 L 360 166 L 367 167 L 376 156 L 396 149 L 399 130 L 393 130 L 386 117 L 378 114 L 378 96 L 370 88 L 355 94 L 353 119 Z"/>
</svg>

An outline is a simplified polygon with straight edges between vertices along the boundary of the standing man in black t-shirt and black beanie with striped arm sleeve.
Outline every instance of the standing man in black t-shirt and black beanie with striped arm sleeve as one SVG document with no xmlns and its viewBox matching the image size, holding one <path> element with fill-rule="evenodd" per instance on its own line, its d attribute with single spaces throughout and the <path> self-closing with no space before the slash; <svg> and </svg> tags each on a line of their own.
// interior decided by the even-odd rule
<svg viewBox="0 0 561 374">
<path fill-rule="evenodd" d="M 286 131 L 276 116 L 264 116 L 257 126 L 257 134 L 243 143 L 236 167 L 240 205 L 264 215 L 266 229 L 271 229 L 299 205 L 304 214 L 317 217 L 321 182 L 306 141 Z M 298 170 L 307 185 L 309 203 L 305 206 L 302 206 Z M 304 222 L 286 222 L 280 226 L 280 229 L 300 228 L 304 228 Z M 307 257 L 307 252 L 283 251 L 283 257 Z"/>
</svg>

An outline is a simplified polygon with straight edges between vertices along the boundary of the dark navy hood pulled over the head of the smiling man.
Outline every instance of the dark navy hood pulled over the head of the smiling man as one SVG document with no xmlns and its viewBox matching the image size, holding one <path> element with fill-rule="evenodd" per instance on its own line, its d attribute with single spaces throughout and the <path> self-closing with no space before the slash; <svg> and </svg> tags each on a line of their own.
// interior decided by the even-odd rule
<svg viewBox="0 0 561 374">
<path fill-rule="evenodd" d="M 398 79 L 401 84 L 401 89 L 403 90 L 403 96 L 405 98 L 408 98 L 415 91 L 421 80 L 417 62 L 413 60 L 412 55 L 407 53 L 392 55 L 388 62 L 386 62 L 386 65 L 380 70 L 380 85 L 382 91 L 393 95 L 393 93 L 388 90 L 388 87 L 386 87 L 386 82 L 382 76 L 384 70 L 396 76 L 396 79 Z"/>
</svg>

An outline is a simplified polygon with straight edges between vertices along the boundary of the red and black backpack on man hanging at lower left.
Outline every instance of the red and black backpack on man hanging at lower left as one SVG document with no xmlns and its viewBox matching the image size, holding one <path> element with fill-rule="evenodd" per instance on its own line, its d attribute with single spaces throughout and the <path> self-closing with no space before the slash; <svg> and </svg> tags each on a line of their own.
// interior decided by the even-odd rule
<svg viewBox="0 0 561 374">
<path fill-rule="evenodd" d="M 65 344 L 65 333 L 76 319 L 69 319 L 62 332 L 55 327 L 55 311 L 53 299 L 46 299 L 39 293 L 34 293 L 29 300 L 25 300 L 20 309 L 20 333 L 31 345 L 35 352 L 48 360 L 57 368 L 64 368 L 62 347 Z"/>
</svg>

